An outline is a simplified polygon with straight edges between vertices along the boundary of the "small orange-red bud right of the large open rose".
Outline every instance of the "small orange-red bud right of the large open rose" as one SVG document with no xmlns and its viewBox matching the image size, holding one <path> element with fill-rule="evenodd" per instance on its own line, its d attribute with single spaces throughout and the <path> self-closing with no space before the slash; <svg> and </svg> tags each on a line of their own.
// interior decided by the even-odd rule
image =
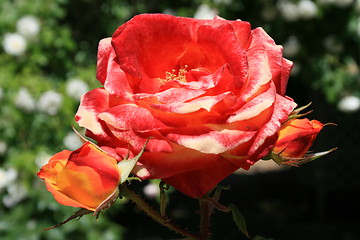
<svg viewBox="0 0 360 240">
<path fill-rule="evenodd" d="M 323 126 L 321 122 L 307 118 L 289 120 L 281 126 L 273 152 L 282 157 L 303 157 Z"/>
</svg>

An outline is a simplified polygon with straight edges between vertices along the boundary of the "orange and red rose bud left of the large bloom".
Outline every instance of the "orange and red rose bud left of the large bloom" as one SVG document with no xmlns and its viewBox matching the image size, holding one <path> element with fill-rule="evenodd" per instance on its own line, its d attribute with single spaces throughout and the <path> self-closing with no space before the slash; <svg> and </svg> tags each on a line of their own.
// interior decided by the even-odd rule
<svg viewBox="0 0 360 240">
<path fill-rule="evenodd" d="M 91 211 L 117 191 L 121 179 L 116 159 L 90 142 L 55 154 L 37 175 L 60 204 Z"/>
</svg>

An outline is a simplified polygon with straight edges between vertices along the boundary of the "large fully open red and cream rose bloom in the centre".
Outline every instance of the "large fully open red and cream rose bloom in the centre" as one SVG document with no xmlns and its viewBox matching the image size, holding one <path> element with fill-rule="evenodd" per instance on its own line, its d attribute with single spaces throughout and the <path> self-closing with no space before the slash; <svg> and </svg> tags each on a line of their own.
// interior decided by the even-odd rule
<svg viewBox="0 0 360 240">
<path fill-rule="evenodd" d="M 272 149 L 296 104 L 292 62 L 262 28 L 221 18 L 135 16 L 99 43 L 76 120 L 120 161 L 150 141 L 135 174 L 201 197 Z"/>
</svg>

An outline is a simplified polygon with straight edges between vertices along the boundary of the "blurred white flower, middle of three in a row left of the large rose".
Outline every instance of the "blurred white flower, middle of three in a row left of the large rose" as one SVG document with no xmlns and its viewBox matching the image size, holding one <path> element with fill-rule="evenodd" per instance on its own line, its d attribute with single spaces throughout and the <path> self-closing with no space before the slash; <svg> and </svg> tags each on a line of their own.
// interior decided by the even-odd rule
<svg viewBox="0 0 360 240">
<path fill-rule="evenodd" d="M 62 103 L 62 95 L 53 90 L 44 92 L 38 101 L 38 109 L 41 112 L 54 116 L 57 114 Z"/>
</svg>

